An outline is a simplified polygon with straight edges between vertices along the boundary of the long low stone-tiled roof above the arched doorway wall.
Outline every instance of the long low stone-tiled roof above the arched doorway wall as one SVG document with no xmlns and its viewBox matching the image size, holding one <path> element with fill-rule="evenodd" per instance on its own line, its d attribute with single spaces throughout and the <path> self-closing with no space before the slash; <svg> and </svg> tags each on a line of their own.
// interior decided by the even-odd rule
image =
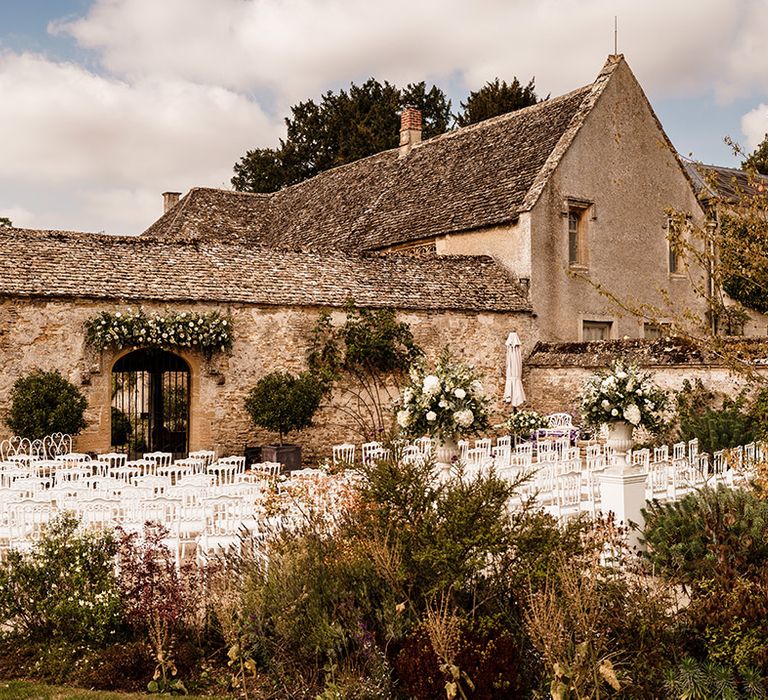
<svg viewBox="0 0 768 700">
<path fill-rule="evenodd" d="M 357 256 L 0 228 L 0 296 L 529 311 L 488 257 Z"/>
</svg>

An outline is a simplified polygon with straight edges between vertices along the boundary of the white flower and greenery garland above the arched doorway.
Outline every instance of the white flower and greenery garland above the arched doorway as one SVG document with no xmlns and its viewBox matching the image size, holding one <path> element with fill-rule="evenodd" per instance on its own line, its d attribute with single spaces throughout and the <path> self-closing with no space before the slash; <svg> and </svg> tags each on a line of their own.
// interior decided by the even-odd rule
<svg viewBox="0 0 768 700">
<path fill-rule="evenodd" d="M 232 323 L 216 311 L 188 311 L 169 316 L 148 316 L 142 309 L 106 311 L 85 323 L 88 343 L 107 347 L 178 347 L 199 350 L 206 357 L 232 349 Z"/>
</svg>

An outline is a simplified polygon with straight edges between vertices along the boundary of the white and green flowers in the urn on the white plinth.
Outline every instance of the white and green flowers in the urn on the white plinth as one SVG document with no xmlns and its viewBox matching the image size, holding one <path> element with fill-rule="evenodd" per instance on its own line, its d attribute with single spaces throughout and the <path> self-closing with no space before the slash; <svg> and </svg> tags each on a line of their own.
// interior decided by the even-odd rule
<svg viewBox="0 0 768 700">
<path fill-rule="evenodd" d="M 667 395 L 659 389 L 649 372 L 637 365 L 616 360 L 607 375 L 594 375 L 581 392 L 584 420 L 599 426 L 625 421 L 655 433 L 663 423 Z"/>
</svg>

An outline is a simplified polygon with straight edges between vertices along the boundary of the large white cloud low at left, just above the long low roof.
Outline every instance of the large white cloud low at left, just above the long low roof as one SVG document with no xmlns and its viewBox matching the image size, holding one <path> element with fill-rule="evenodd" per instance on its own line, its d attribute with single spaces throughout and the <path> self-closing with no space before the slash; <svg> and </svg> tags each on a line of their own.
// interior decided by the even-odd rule
<svg viewBox="0 0 768 700">
<path fill-rule="evenodd" d="M 235 161 L 272 144 L 279 130 L 258 104 L 225 88 L 117 80 L 32 54 L 0 55 L 0 94 L 0 132 L 10 135 L 0 182 L 45 192 L 38 210 L 66 185 L 85 207 L 78 228 L 112 230 L 110 211 L 122 208 L 130 228 L 120 230 L 138 232 L 156 216 L 163 190 L 227 187 Z M 133 228 L 137 213 L 143 224 Z"/>
</svg>

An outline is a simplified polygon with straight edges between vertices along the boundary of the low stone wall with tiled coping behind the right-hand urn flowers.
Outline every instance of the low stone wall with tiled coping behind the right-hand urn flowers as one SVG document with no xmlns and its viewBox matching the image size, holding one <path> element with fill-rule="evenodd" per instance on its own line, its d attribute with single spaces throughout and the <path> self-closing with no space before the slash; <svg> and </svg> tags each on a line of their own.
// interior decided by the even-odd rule
<svg viewBox="0 0 768 700">
<path fill-rule="evenodd" d="M 768 339 L 738 339 L 745 360 L 768 379 Z M 591 343 L 539 343 L 523 363 L 526 407 L 541 413 L 567 411 L 581 422 L 578 395 L 585 380 L 624 358 L 651 372 L 662 389 L 678 391 L 687 379 L 700 379 L 716 392 L 734 395 L 755 382 L 680 339 L 615 340 Z"/>
</svg>

